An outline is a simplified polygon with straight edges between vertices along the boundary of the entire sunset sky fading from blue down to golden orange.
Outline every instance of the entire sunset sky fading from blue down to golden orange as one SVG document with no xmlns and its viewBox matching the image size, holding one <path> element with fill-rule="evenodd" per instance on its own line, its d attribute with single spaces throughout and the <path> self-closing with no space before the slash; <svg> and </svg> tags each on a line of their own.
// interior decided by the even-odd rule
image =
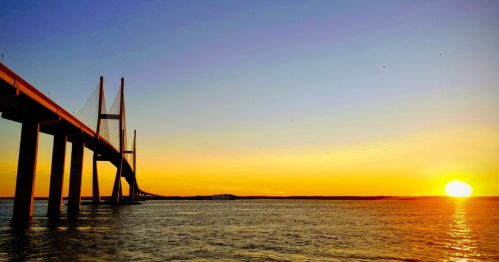
<svg viewBox="0 0 499 262">
<path fill-rule="evenodd" d="M 420 196 L 458 179 L 498 195 L 498 1 L 7 0 L 0 10 L 3 63 L 68 112 L 100 76 L 109 107 L 125 78 L 143 190 Z M 0 118 L 0 197 L 14 196 L 20 130 Z M 52 141 L 40 135 L 35 196 L 48 196 Z M 101 195 L 115 172 L 99 162 Z"/>
</svg>

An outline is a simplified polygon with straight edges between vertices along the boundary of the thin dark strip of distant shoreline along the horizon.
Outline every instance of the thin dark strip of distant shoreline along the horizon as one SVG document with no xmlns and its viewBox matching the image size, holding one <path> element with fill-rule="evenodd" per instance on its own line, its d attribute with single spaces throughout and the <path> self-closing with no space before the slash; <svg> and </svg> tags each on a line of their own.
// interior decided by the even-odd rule
<svg viewBox="0 0 499 262">
<path fill-rule="evenodd" d="M 479 200 L 479 201 L 499 201 L 499 196 L 471 196 L 466 198 L 454 198 L 448 196 L 234 196 L 237 200 Z M 101 197 L 106 200 L 110 197 Z M 154 197 L 148 200 L 207 200 L 209 196 L 164 196 Z M 0 197 L 0 200 L 13 200 L 14 197 Z M 92 197 L 81 198 L 84 201 L 92 200 Z M 35 197 L 35 200 L 48 200 L 48 197 Z M 67 200 L 67 197 L 64 197 Z"/>
</svg>

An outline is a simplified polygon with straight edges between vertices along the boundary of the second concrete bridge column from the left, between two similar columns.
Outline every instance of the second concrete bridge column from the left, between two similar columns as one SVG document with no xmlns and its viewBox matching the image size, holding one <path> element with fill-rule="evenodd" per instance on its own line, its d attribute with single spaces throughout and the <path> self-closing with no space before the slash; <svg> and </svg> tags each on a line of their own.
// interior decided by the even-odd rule
<svg viewBox="0 0 499 262">
<path fill-rule="evenodd" d="M 66 135 L 54 135 L 48 215 L 59 215 L 62 212 L 62 186 L 64 184 L 66 140 Z"/>
</svg>

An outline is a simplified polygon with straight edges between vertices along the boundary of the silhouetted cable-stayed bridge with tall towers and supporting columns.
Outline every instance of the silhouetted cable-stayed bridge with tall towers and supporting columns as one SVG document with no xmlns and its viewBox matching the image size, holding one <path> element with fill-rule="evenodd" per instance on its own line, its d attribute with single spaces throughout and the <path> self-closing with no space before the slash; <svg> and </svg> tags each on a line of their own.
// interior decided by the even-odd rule
<svg viewBox="0 0 499 262">
<path fill-rule="evenodd" d="M 156 196 L 140 189 L 136 179 L 135 132 L 133 144 L 127 145 L 124 79 L 109 112 L 104 98 L 103 78 L 76 117 L 0 64 L 0 112 L 8 120 L 22 123 L 21 144 L 14 200 L 14 218 L 28 218 L 33 213 L 36 159 L 39 132 L 54 136 L 48 214 L 62 211 L 62 187 L 66 142 L 72 143 L 68 210 L 81 207 L 83 152 L 93 155 L 92 201 L 101 202 L 97 161 L 109 161 L 117 168 L 111 203 L 144 200 Z M 123 197 L 121 177 L 129 184 Z"/>
</svg>

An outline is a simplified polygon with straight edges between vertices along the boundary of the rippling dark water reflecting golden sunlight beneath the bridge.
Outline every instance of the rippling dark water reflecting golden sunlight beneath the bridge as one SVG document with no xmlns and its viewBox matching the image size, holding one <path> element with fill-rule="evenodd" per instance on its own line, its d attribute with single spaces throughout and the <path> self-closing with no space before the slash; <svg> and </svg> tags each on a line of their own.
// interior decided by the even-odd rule
<svg viewBox="0 0 499 262">
<path fill-rule="evenodd" d="M 147 201 L 27 226 L 0 201 L 0 261 L 499 261 L 499 201 Z M 65 209 L 65 207 L 64 207 Z"/>
</svg>

